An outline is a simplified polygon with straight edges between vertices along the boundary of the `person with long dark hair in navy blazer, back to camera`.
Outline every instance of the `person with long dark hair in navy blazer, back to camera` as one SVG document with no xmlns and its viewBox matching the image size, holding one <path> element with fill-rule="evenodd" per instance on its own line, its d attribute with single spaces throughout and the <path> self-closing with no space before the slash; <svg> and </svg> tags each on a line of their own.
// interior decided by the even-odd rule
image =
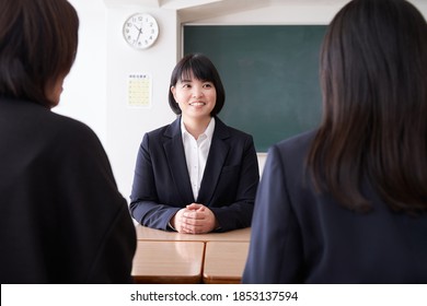
<svg viewBox="0 0 427 306">
<path fill-rule="evenodd" d="M 426 68 L 409 2 L 335 15 L 322 122 L 269 149 L 243 283 L 427 283 Z"/>
</svg>

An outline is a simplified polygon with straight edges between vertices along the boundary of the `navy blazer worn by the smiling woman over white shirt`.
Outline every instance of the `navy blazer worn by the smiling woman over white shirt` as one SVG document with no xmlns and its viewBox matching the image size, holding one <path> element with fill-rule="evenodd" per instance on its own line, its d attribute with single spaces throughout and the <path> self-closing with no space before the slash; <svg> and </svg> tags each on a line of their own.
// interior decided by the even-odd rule
<svg viewBox="0 0 427 306">
<path fill-rule="evenodd" d="M 171 217 L 193 202 L 208 207 L 220 231 L 251 226 L 258 162 L 253 138 L 216 118 L 198 198 L 194 199 L 181 132 L 181 116 L 146 133 L 139 148 L 130 211 L 140 224 L 168 229 Z"/>
</svg>

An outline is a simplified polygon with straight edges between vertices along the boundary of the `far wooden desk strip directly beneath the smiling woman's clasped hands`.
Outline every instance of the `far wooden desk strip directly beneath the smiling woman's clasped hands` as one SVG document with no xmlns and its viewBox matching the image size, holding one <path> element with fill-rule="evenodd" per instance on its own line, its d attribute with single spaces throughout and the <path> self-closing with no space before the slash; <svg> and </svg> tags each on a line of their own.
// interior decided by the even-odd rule
<svg viewBox="0 0 427 306">
<path fill-rule="evenodd" d="M 169 242 L 249 242 L 251 238 L 251 227 L 234 229 L 226 233 L 208 234 L 181 234 L 154 229 L 138 224 L 136 226 L 138 240 L 169 240 Z"/>
</svg>

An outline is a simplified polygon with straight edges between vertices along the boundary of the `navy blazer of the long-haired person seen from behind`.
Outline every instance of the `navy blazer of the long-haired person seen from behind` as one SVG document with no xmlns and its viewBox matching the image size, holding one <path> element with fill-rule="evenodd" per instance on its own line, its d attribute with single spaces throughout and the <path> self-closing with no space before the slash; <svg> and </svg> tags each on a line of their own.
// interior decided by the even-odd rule
<svg viewBox="0 0 427 306">
<path fill-rule="evenodd" d="M 367 183 L 368 214 L 318 195 L 304 173 L 313 136 L 268 152 L 243 283 L 427 283 L 427 215 L 392 212 Z"/>
</svg>

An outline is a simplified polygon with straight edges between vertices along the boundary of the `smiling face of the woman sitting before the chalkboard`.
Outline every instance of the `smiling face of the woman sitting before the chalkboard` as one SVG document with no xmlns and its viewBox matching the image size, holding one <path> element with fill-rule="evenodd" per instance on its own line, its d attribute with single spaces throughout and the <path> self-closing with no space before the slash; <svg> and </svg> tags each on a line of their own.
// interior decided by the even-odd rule
<svg viewBox="0 0 427 306">
<path fill-rule="evenodd" d="M 180 105 L 184 121 L 210 120 L 211 111 L 217 103 L 217 90 L 212 82 L 194 78 L 193 73 L 183 75 L 171 87 L 171 92 Z"/>
</svg>

